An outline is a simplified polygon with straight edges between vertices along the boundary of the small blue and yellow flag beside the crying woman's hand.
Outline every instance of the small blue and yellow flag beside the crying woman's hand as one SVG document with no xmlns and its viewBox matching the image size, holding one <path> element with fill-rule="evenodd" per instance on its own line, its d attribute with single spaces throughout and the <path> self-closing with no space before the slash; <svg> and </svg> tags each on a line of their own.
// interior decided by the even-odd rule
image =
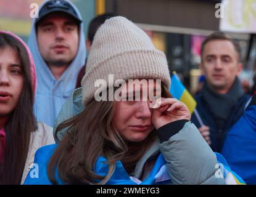
<svg viewBox="0 0 256 197">
<path fill-rule="evenodd" d="M 183 86 L 176 72 L 171 74 L 170 93 L 174 98 L 177 98 L 183 102 L 188 107 L 191 114 L 193 113 L 194 109 L 196 108 L 196 100 L 194 100 L 189 91 Z"/>
</svg>

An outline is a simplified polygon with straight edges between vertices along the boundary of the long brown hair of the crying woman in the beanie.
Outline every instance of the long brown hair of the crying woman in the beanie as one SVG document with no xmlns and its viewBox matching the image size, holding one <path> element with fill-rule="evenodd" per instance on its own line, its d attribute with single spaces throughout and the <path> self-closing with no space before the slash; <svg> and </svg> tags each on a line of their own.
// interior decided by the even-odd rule
<svg viewBox="0 0 256 197">
<path fill-rule="evenodd" d="M 171 97 L 163 85 L 162 96 Z M 52 183 L 57 183 L 57 169 L 57 174 L 65 184 L 104 184 L 113 174 L 118 160 L 122 161 L 128 174 L 134 172 L 136 163 L 157 137 L 156 132 L 152 131 L 142 142 L 125 142 L 112 123 L 114 112 L 115 102 L 92 100 L 80 114 L 59 124 L 56 138 L 62 129 L 68 130 L 47 167 Z M 109 164 L 109 172 L 105 177 L 94 172 L 100 155 L 107 158 Z"/>
</svg>

